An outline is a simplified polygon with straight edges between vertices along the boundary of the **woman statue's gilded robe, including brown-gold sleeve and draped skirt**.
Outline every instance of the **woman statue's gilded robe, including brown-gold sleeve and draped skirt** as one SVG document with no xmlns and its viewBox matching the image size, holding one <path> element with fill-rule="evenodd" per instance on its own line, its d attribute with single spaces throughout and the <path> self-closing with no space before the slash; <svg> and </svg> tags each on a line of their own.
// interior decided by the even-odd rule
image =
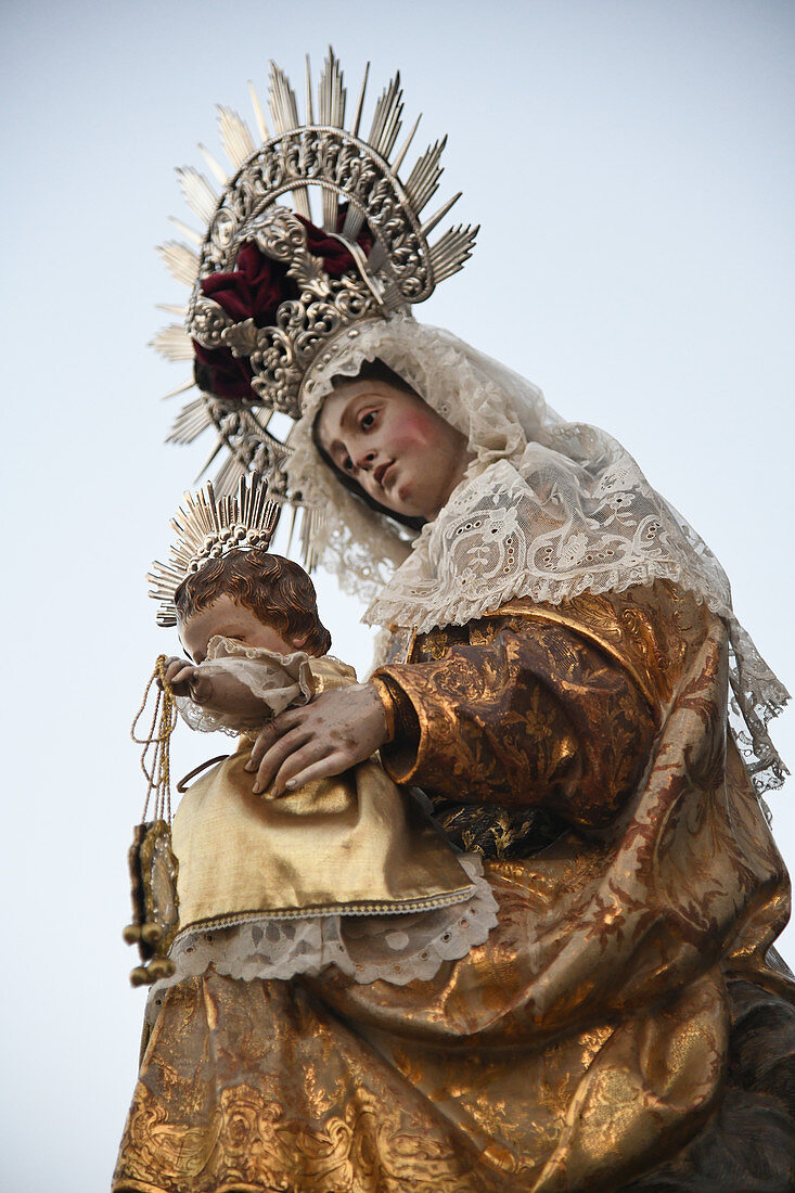
<svg viewBox="0 0 795 1193">
<path fill-rule="evenodd" d="M 489 791 L 553 802 L 565 832 L 486 860 L 498 927 L 429 982 L 168 990 L 116 1193 L 616 1193 L 720 1127 L 729 987 L 791 1014 L 765 962 L 787 876 L 727 746 L 719 619 L 655 585 L 512 606 L 412 660 L 386 669 L 417 721 L 395 767 L 485 817 Z M 765 1187 L 683 1172 L 666 1191 Z"/>
</svg>

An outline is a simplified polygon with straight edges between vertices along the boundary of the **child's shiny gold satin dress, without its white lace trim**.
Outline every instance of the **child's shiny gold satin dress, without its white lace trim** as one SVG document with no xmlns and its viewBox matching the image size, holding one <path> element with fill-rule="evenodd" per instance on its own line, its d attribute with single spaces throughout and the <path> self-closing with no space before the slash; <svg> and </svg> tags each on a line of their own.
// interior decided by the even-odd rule
<svg viewBox="0 0 795 1193">
<path fill-rule="evenodd" d="M 356 679 L 327 657 L 310 668 L 318 692 Z M 415 802 L 375 762 L 269 799 L 252 792 L 249 752 L 241 738 L 174 817 L 180 931 L 267 914 L 420 910 L 472 889 Z"/>
</svg>

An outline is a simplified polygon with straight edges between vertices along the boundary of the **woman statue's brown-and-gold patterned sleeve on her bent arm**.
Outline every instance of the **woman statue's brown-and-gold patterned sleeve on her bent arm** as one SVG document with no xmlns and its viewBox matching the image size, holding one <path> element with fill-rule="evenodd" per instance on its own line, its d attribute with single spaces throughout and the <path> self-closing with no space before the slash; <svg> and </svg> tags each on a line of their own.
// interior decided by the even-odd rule
<svg viewBox="0 0 795 1193">
<path fill-rule="evenodd" d="M 587 613 L 596 605 L 605 622 L 614 612 L 606 598 L 569 602 L 580 604 Z M 517 601 L 474 623 L 467 644 L 437 631 L 420 647 L 430 657 L 375 673 L 395 719 L 417 727 L 382 750 L 384 766 L 399 783 L 463 803 L 543 804 L 598 827 L 635 787 L 659 723 L 662 675 L 649 681 L 629 651 L 616 665 L 598 639 L 573 631 L 571 611 L 530 610 Z M 439 638 L 454 639 L 440 656 Z"/>
</svg>

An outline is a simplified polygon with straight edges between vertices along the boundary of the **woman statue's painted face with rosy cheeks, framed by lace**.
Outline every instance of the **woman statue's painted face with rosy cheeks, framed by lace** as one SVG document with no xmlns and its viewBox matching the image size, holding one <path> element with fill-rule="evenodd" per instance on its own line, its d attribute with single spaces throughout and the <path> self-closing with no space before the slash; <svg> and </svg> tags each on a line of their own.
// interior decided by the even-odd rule
<svg viewBox="0 0 795 1193">
<path fill-rule="evenodd" d="M 333 464 L 375 501 L 432 521 L 472 458 L 467 440 L 421 398 L 389 382 L 351 381 L 318 415 L 318 440 Z"/>
</svg>

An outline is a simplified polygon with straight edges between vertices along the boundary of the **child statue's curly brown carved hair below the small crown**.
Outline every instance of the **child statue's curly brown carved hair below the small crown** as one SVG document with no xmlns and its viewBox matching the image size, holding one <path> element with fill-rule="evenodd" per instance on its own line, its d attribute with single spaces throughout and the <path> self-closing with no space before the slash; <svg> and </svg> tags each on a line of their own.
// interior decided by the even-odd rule
<svg viewBox="0 0 795 1193">
<path fill-rule="evenodd" d="M 308 654 L 328 653 L 331 633 L 318 616 L 315 586 L 292 560 L 263 549 L 233 550 L 210 560 L 174 593 L 179 620 L 185 622 L 218 596 L 232 596 L 284 638 L 306 636 L 302 649 Z"/>
</svg>

